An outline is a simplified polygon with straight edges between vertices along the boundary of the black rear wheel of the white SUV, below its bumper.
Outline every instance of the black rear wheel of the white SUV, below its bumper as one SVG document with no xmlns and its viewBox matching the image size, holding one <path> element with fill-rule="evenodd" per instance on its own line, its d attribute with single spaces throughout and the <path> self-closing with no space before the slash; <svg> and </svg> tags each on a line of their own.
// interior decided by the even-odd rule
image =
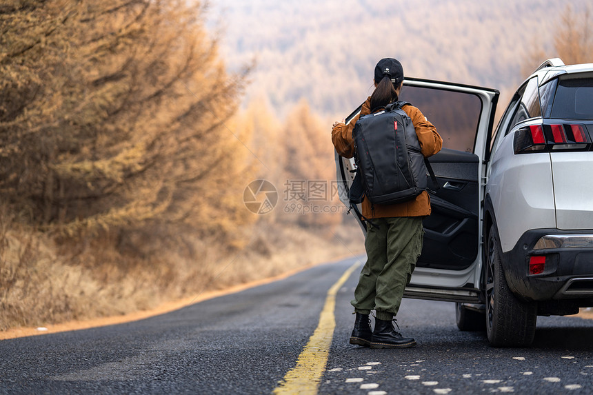
<svg viewBox="0 0 593 395">
<path fill-rule="evenodd" d="M 535 335 L 536 303 L 519 300 L 510 291 L 499 247 L 499 234 L 492 225 L 488 235 L 485 272 L 486 332 L 495 347 L 530 345 Z"/>
</svg>

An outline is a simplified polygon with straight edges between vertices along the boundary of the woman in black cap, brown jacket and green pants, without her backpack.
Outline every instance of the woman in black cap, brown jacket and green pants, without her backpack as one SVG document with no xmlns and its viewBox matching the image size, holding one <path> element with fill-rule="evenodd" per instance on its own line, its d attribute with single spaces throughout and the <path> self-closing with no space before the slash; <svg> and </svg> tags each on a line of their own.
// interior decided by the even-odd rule
<svg viewBox="0 0 593 395">
<path fill-rule="evenodd" d="M 373 81 L 374 92 L 363 103 L 360 116 L 399 99 L 403 85 L 401 63 L 396 59 L 381 59 L 375 66 Z M 422 154 L 428 157 L 439 152 L 443 139 L 434 125 L 413 105 L 404 105 L 402 110 L 412 119 Z M 348 125 L 343 121 L 333 125 L 332 142 L 345 158 L 354 155 L 352 129 L 357 120 L 358 117 Z M 430 215 L 430 197 L 424 191 L 411 201 L 390 205 L 371 205 L 365 199 L 362 214 L 373 225 L 367 225 L 367 261 L 351 302 L 356 320 L 350 343 L 372 348 L 415 347 L 414 338 L 405 338 L 396 332 L 392 321 L 422 250 L 422 220 Z M 376 312 L 374 330 L 370 327 L 371 310 Z"/>
</svg>

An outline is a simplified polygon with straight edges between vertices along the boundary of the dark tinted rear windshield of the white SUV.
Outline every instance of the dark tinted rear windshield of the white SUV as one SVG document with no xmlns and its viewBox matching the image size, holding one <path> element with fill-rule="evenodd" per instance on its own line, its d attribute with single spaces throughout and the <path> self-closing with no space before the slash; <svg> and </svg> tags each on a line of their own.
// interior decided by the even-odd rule
<svg viewBox="0 0 593 395">
<path fill-rule="evenodd" d="M 593 79 L 561 79 L 550 117 L 593 119 Z"/>
</svg>

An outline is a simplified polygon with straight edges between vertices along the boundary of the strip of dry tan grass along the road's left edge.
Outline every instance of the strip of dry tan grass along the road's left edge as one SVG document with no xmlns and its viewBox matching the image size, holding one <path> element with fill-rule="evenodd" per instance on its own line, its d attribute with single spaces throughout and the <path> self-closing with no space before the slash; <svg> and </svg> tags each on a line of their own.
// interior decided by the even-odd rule
<svg viewBox="0 0 593 395">
<path fill-rule="evenodd" d="M 185 236 L 116 248 L 109 237 L 58 244 L 2 218 L 0 330 L 150 310 L 363 252 L 353 224 L 329 232 L 262 223 L 234 247 Z"/>
</svg>

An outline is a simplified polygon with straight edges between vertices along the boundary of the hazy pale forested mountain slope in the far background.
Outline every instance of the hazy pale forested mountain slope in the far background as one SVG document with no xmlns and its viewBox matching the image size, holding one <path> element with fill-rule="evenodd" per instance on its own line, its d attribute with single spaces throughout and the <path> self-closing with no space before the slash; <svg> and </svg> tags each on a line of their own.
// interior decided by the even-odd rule
<svg viewBox="0 0 593 395">
<path fill-rule="evenodd" d="M 589 1 L 570 5 L 580 9 Z M 210 18 L 222 22 L 221 51 L 230 70 L 257 61 L 246 101 L 263 97 L 283 115 L 306 99 L 319 114 L 334 116 L 372 92 L 372 71 L 382 57 L 399 59 L 409 77 L 504 94 L 525 77 L 521 64 L 534 43 L 551 48 L 567 3 L 214 0 Z"/>
</svg>

